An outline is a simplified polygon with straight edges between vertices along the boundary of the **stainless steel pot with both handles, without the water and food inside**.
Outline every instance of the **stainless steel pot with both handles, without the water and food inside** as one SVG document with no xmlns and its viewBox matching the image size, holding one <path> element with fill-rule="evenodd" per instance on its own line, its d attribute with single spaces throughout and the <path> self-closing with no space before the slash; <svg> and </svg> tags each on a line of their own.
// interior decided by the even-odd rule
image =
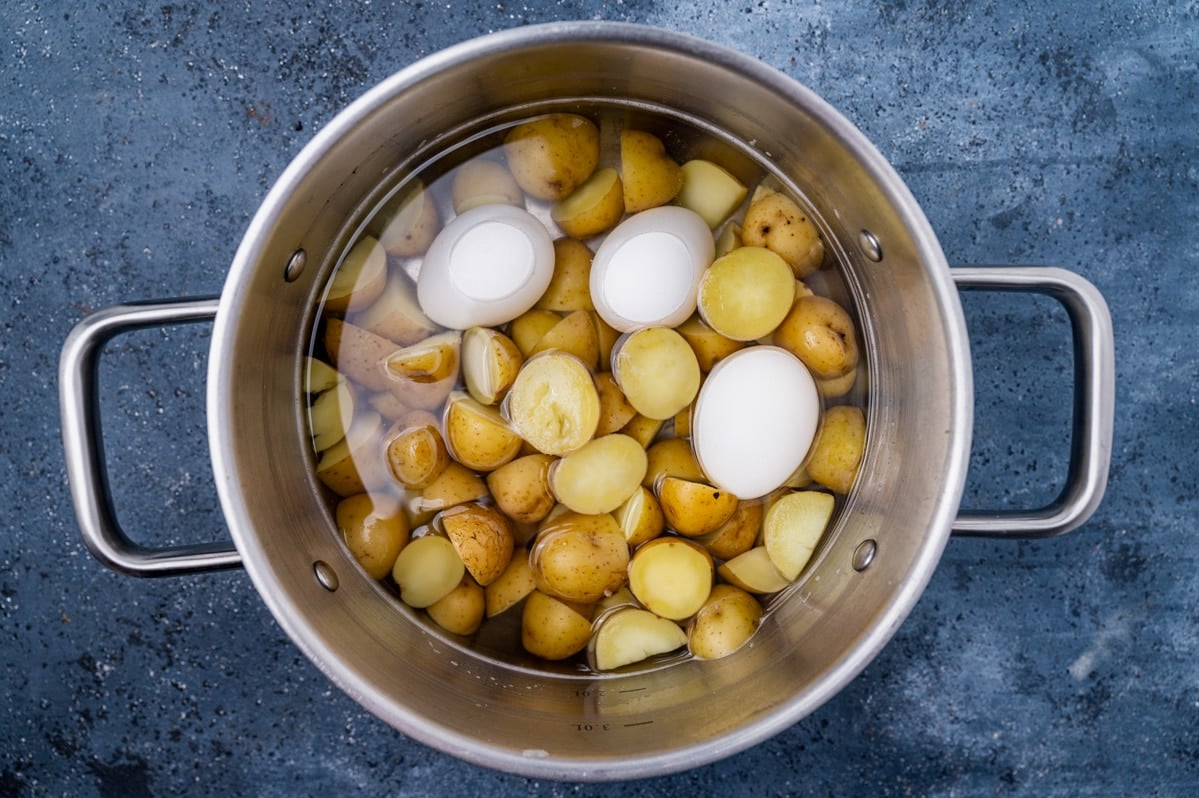
<svg viewBox="0 0 1199 798">
<path fill-rule="evenodd" d="M 300 367 L 314 304 L 355 220 L 448 140 L 572 99 L 662 110 L 748 143 L 801 186 L 844 261 L 868 347 L 868 452 L 811 575 L 753 645 L 629 676 L 553 676 L 484 659 L 405 615 L 338 542 L 312 477 Z M 1061 300 L 1076 351 L 1076 434 L 1062 496 L 1018 515 L 958 515 L 971 368 L 958 290 Z M 94 411 L 95 363 L 129 328 L 216 315 L 209 431 L 235 549 L 147 550 L 115 521 Z M 1111 327 L 1098 292 L 1054 268 L 951 270 L 903 182 L 845 119 L 790 78 L 651 28 L 511 30 L 427 58 L 347 108 L 270 192 L 219 301 L 110 308 L 61 362 L 64 442 L 91 550 L 133 574 L 241 563 L 279 624 L 343 690 L 429 745 L 537 778 L 682 770 L 796 723 L 852 679 L 921 594 L 951 530 L 1049 536 L 1098 503 L 1113 421 Z"/>
</svg>

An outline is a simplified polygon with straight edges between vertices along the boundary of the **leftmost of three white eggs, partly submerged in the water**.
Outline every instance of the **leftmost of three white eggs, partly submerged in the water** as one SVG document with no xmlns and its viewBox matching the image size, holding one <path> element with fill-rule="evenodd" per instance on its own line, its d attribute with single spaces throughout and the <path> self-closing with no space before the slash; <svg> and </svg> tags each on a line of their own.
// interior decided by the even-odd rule
<svg viewBox="0 0 1199 798">
<path fill-rule="evenodd" d="M 495 327 L 531 308 L 553 276 L 554 243 L 537 217 L 482 205 L 456 216 L 433 240 L 416 298 L 442 327 Z"/>
</svg>

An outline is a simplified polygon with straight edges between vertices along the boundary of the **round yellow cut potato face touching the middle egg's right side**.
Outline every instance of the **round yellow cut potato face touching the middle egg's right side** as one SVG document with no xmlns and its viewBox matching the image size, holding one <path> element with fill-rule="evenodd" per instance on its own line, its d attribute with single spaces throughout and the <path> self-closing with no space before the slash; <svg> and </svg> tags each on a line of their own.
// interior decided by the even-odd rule
<svg viewBox="0 0 1199 798">
<path fill-rule="evenodd" d="M 787 262 L 763 247 L 741 247 L 717 258 L 699 280 L 699 315 L 733 340 L 757 340 L 787 318 L 795 278 Z"/>
</svg>

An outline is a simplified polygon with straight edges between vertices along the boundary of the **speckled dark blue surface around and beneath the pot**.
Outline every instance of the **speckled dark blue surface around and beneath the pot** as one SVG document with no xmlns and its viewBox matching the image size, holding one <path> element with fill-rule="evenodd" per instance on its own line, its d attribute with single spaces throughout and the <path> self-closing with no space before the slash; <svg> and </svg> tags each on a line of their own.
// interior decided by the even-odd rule
<svg viewBox="0 0 1199 798">
<path fill-rule="evenodd" d="M 1107 296 L 1107 498 L 1047 542 L 953 540 L 864 673 L 685 774 L 529 781 L 404 738 L 300 654 L 241 572 L 137 580 L 83 548 L 56 358 L 108 304 L 215 295 L 339 108 L 453 42 L 550 19 L 694 32 L 812 86 L 897 167 L 954 262 Z M 948 2 L 6 2 L 0 7 L 0 796 L 1077 796 L 1199 787 L 1199 6 Z M 968 502 L 1060 488 L 1071 381 L 1044 300 L 964 301 Z M 225 536 L 204 326 L 114 343 L 114 495 L 146 542 Z"/>
</svg>

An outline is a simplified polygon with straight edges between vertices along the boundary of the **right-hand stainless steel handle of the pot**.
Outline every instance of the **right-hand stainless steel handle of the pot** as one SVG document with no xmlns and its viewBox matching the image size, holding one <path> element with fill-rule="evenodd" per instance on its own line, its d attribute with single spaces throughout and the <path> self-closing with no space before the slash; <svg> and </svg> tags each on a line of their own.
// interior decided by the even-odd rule
<svg viewBox="0 0 1199 798">
<path fill-rule="evenodd" d="M 1083 277 L 1047 266 L 952 268 L 959 290 L 1050 296 L 1070 315 L 1074 344 L 1074 429 L 1066 484 L 1052 504 L 1035 510 L 964 512 L 962 537 L 1049 538 L 1080 526 L 1103 498 L 1115 416 L 1115 344 L 1111 315 L 1098 289 Z"/>
</svg>

